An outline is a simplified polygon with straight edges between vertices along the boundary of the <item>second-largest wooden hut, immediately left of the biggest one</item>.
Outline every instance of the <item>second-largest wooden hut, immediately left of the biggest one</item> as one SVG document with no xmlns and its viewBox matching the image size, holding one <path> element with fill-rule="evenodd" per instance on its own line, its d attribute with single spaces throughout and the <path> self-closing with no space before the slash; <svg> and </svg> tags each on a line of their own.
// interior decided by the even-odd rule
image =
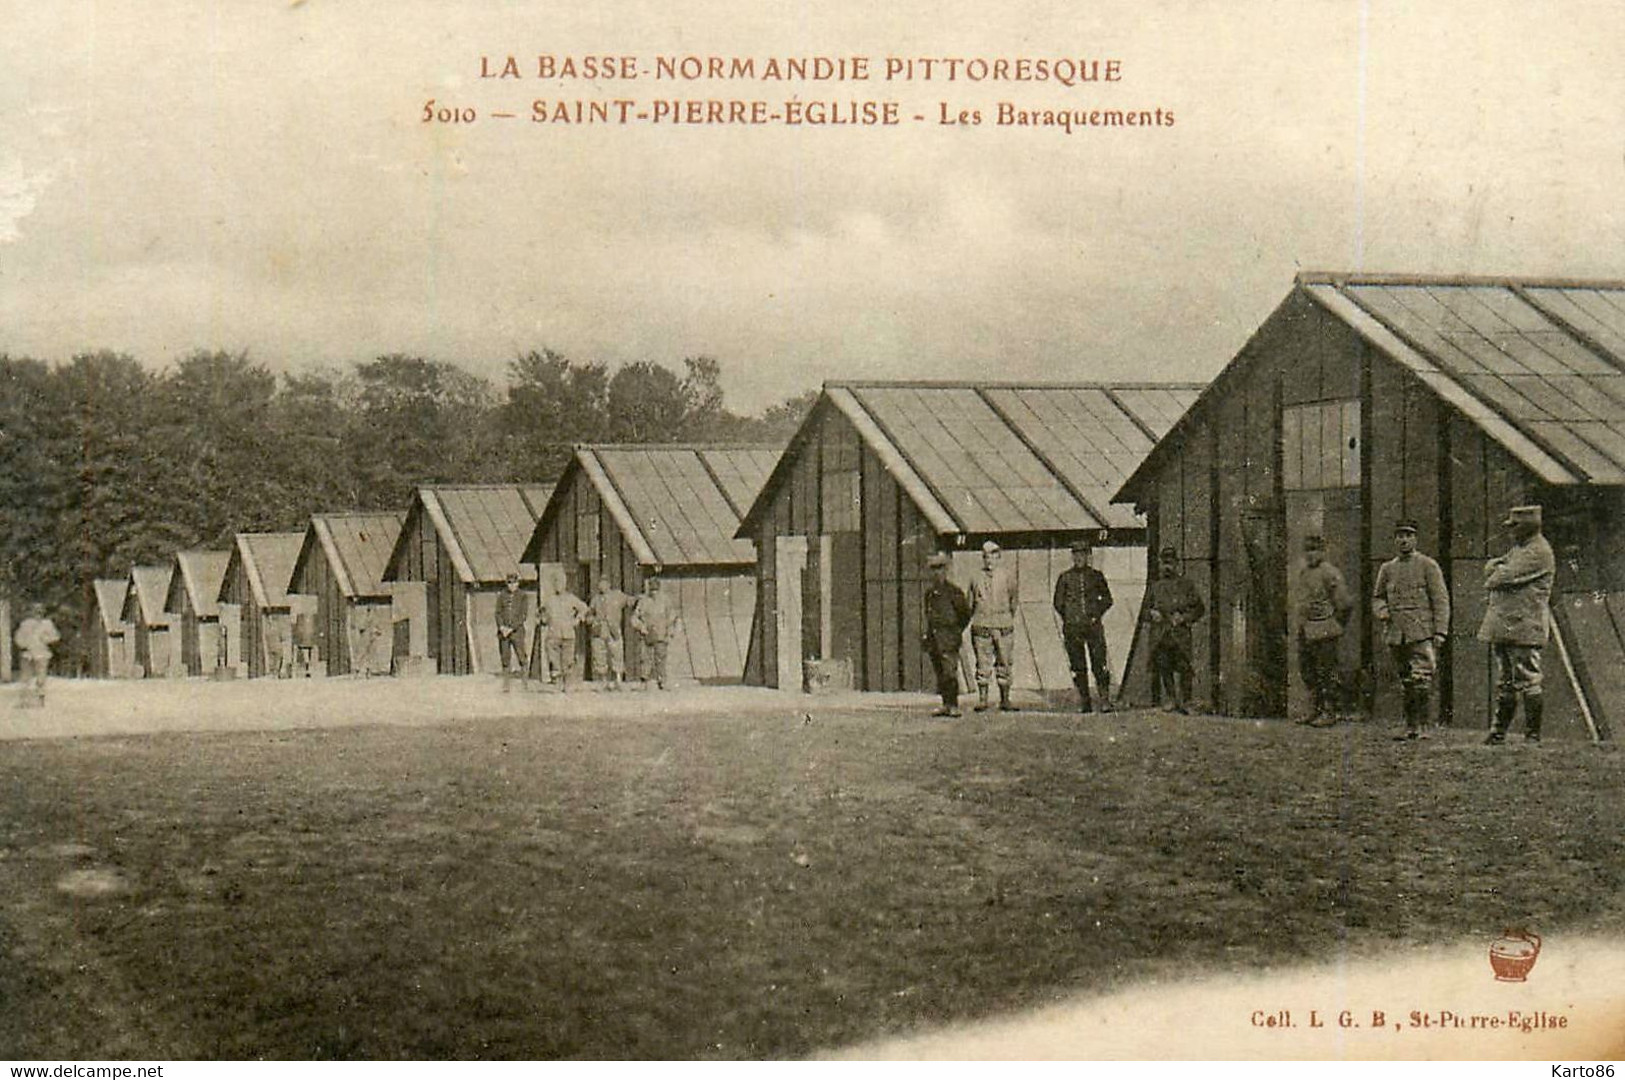
<svg viewBox="0 0 1625 1080">
<path fill-rule="evenodd" d="M 1022 601 L 1017 689 L 1072 680 L 1051 609 L 1089 539 L 1116 596 L 1121 672 L 1144 593 L 1146 526 L 1112 494 L 1196 398 L 1190 383 L 826 383 L 739 525 L 757 549 L 746 680 L 800 687 L 804 661 L 850 664 L 864 690 L 930 690 L 920 646 L 926 559 L 960 585 L 986 539 Z M 968 645 L 967 645 L 968 651 Z"/>
</svg>

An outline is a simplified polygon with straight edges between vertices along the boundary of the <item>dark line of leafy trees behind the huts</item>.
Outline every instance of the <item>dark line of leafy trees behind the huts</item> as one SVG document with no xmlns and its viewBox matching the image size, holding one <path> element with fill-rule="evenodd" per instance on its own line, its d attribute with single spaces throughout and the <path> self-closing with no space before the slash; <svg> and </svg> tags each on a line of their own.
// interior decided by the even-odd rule
<svg viewBox="0 0 1625 1080">
<path fill-rule="evenodd" d="M 403 354 L 281 375 L 244 352 L 164 372 L 122 352 L 0 354 L 0 596 L 13 619 L 46 604 L 73 667 L 98 577 L 325 510 L 400 510 L 418 484 L 552 481 L 577 442 L 783 442 L 816 396 L 741 416 L 720 377 L 704 356 L 679 375 L 551 349 L 500 383 Z"/>
</svg>

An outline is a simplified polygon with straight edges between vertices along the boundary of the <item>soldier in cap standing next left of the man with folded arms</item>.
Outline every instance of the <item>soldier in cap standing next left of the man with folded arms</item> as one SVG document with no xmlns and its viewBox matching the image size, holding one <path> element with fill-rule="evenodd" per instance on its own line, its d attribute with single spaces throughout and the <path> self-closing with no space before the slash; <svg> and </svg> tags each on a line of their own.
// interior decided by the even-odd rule
<svg viewBox="0 0 1625 1080">
<path fill-rule="evenodd" d="M 1433 700 L 1438 650 L 1450 633 L 1450 590 L 1438 564 L 1417 551 L 1417 523 L 1394 523 L 1394 557 L 1376 570 L 1372 614 L 1383 629 L 1383 643 L 1399 669 L 1406 731 L 1394 736 L 1425 739 L 1424 724 Z"/>
</svg>

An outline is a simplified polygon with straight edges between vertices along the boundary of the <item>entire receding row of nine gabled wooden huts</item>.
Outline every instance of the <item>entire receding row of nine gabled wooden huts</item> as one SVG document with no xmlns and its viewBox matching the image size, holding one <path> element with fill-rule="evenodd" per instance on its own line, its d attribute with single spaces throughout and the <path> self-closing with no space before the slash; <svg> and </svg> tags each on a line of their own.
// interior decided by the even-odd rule
<svg viewBox="0 0 1625 1080">
<path fill-rule="evenodd" d="M 141 567 L 98 596 L 104 627 L 179 619 L 182 661 L 208 650 L 211 612 L 276 616 L 302 594 L 333 671 L 379 666 L 387 638 L 392 658 L 466 672 L 492 666 L 507 570 L 583 598 L 598 578 L 635 593 L 658 573 L 676 585 L 678 664 L 694 677 L 795 687 L 814 664 L 858 689 L 923 690 L 925 560 L 951 552 L 964 580 L 993 539 L 1019 580 L 1017 685 L 1051 690 L 1071 679 L 1050 588 L 1087 539 L 1118 594 L 1118 667 L 1144 698 L 1139 603 L 1147 551 L 1167 544 L 1211 612 L 1198 700 L 1285 715 L 1300 706 L 1302 541 L 1323 536 L 1365 593 L 1409 516 L 1456 598 L 1438 693 L 1450 719 L 1490 693 L 1472 630 L 1500 515 L 1539 502 L 1560 557 L 1554 689 L 1571 705 L 1552 711 L 1601 732 L 1625 721 L 1622 490 L 1625 286 L 1300 274 L 1206 385 L 827 383 L 782 450 L 580 447 L 551 489 L 424 487 L 400 515 L 314 518 L 286 583 L 255 586 L 250 564 L 286 565 L 299 534 L 280 538 L 281 555 L 239 538 L 224 557 Z M 221 572 L 239 580 L 211 593 Z M 240 633 L 250 664 L 254 633 L 266 632 Z M 1363 604 L 1342 648 L 1383 708 L 1396 679 Z M 158 651 L 138 643 L 132 659 L 151 667 Z"/>
</svg>

